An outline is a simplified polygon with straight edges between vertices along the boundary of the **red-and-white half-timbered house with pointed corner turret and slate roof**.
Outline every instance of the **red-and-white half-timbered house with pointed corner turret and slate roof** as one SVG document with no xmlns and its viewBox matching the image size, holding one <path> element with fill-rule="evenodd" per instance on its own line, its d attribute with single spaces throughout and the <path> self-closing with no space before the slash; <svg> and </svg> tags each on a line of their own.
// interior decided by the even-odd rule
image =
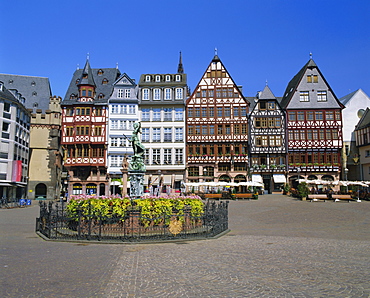
<svg viewBox="0 0 370 298">
<path fill-rule="evenodd" d="M 68 171 L 68 194 L 107 195 L 108 99 L 120 73 L 117 68 L 77 69 L 62 106 L 62 146 Z"/>
</svg>

